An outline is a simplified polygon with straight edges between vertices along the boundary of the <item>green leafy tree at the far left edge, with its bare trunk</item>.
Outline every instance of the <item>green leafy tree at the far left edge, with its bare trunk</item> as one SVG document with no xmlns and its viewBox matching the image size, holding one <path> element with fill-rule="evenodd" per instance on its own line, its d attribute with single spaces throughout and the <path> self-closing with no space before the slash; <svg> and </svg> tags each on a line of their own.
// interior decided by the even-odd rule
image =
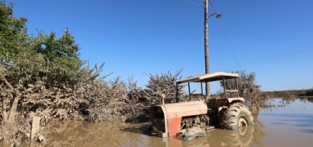
<svg viewBox="0 0 313 147">
<path fill-rule="evenodd" d="M 5 4 L 5 1 L 0 1 L 0 76 L 3 85 L 9 89 L 9 95 L 14 97 L 12 107 L 17 104 L 18 94 L 16 89 L 6 80 L 3 71 L 14 64 L 13 59 L 21 57 L 22 51 L 27 46 L 27 28 L 26 18 L 15 18 L 13 14 L 13 3 L 9 5 Z M 5 86 L 1 85 L 2 97 L 4 94 L 3 89 Z M 2 115 L 7 119 L 7 109 L 9 105 L 9 99 L 2 98 Z M 16 108 L 15 106 L 13 108 Z M 11 108 L 12 111 L 14 111 Z M 16 110 L 16 109 L 15 109 Z M 12 118 L 13 113 L 10 113 L 9 118 Z"/>
</svg>

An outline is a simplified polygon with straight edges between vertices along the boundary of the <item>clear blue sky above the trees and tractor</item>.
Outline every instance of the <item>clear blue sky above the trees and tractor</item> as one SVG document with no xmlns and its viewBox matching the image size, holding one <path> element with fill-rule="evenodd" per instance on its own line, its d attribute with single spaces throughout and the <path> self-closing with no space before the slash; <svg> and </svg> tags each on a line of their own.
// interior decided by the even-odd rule
<svg viewBox="0 0 313 147">
<path fill-rule="evenodd" d="M 7 0 L 10 1 L 10 0 Z M 145 73 L 184 68 L 204 73 L 203 9 L 185 0 L 11 0 L 15 16 L 28 18 L 29 33 L 69 28 L 91 65 L 138 85 Z M 201 4 L 201 0 L 190 0 Z M 313 87 L 312 0 L 212 0 L 223 14 L 209 19 L 210 72 L 257 73 L 264 91 Z M 212 7 L 209 7 L 213 13 Z M 218 84 L 212 84 L 215 93 Z"/>
</svg>

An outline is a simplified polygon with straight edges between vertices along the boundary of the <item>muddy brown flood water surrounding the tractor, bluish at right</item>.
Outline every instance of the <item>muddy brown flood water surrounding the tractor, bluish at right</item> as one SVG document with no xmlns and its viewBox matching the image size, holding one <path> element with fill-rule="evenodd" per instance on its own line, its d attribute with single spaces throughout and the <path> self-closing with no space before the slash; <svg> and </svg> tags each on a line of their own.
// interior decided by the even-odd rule
<svg viewBox="0 0 313 147">
<path fill-rule="evenodd" d="M 22 142 L 21 147 L 313 147 L 313 98 L 283 100 L 254 116 L 255 125 L 241 130 L 215 128 L 206 137 L 181 142 L 141 133 L 149 123 L 63 121 L 46 125 L 47 143 Z"/>
</svg>

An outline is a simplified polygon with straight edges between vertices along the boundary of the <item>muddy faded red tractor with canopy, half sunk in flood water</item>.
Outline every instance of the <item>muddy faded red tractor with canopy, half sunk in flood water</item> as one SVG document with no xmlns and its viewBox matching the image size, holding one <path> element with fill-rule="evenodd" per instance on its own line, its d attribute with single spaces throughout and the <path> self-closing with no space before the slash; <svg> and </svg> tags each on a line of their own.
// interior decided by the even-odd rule
<svg viewBox="0 0 313 147">
<path fill-rule="evenodd" d="M 180 136 L 183 141 L 191 141 L 198 136 L 206 136 L 203 130 L 221 126 L 237 129 L 253 125 L 251 112 L 239 98 L 237 73 L 209 73 L 181 79 L 176 83 L 176 103 L 160 104 L 151 107 L 152 135 L 158 137 Z M 235 90 L 226 90 L 226 79 L 234 79 Z M 223 80 L 224 98 L 203 96 L 202 83 Z M 201 99 L 191 100 L 190 82 L 201 83 Z M 180 102 L 179 84 L 188 83 L 189 101 Z M 235 98 L 228 98 L 235 95 Z"/>
</svg>

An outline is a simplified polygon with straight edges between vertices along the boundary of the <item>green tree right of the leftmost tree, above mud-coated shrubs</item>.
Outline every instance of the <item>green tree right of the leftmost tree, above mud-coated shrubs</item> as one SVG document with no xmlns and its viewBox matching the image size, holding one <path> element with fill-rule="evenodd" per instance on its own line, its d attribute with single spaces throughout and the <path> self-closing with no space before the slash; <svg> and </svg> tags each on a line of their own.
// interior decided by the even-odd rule
<svg viewBox="0 0 313 147">
<path fill-rule="evenodd" d="M 32 38 L 32 44 L 32 50 L 43 55 L 48 67 L 49 72 L 42 73 L 49 80 L 47 86 L 73 85 L 81 79 L 78 73 L 84 62 L 79 58 L 80 48 L 68 29 L 60 38 L 53 31 L 49 35 L 39 31 L 38 36 Z"/>
</svg>

